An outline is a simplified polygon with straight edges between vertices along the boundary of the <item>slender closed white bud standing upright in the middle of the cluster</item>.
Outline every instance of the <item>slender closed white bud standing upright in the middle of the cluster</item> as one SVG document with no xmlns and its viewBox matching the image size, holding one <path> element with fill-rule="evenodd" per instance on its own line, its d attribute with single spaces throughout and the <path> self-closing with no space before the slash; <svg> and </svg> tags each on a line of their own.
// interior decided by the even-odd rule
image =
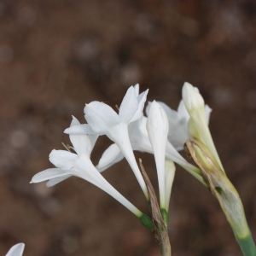
<svg viewBox="0 0 256 256">
<path fill-rule="evenodd" d="M 154 152 L 160 191 L 160 208 L 166 209 L 166 142 L 169 130 L 166 112 L 157 102 L 152 102 L 148 111 L 147 131 Z"/>
</svg>

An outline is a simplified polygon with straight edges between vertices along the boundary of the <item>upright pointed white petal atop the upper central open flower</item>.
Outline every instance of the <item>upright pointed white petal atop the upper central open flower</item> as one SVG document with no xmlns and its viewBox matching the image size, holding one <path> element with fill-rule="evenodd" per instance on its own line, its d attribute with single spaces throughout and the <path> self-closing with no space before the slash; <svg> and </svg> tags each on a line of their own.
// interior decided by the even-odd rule
<svg viewBox="0 0 256 256">
<path fill-rule="evenodd" d="M 125 123 L 128 124 L 133 118 L 134 114 L 137 112 L 137 95 L 133 86 L 131 86 L 120 105 L 119 108 L 119 118 Z"/>
</svg>

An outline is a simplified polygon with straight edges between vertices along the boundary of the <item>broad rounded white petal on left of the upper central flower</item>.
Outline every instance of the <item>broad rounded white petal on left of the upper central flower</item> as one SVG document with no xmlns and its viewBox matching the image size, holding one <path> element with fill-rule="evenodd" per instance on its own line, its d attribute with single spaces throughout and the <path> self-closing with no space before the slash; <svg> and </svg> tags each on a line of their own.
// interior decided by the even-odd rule
<svg viewBox="0 0 256 256">
<path fill-rule="evenodd" d="M 107 104 L 90 102 L 84 108 L 85 119 L 95 132 L 108 131 L 113 125 L 119 123 L 119 115 Z"/>
</svg>

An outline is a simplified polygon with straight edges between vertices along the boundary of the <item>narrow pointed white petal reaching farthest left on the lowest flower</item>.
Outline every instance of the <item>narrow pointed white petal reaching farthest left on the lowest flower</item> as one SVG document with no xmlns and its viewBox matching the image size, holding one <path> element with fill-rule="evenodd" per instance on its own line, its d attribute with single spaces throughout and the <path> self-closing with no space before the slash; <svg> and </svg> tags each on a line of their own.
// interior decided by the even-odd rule
<svg viewBox="0 0 256 256">
<path fill-rule="evenodd" d="M 50 168 L 46 169 L 43 172 L 38 172 L 32 177 L 31 183 L 41 183 L 43 181 L 55 178 L 71 175 L 71 172 L 62 170 L 61 168 Z"/>
</svg>

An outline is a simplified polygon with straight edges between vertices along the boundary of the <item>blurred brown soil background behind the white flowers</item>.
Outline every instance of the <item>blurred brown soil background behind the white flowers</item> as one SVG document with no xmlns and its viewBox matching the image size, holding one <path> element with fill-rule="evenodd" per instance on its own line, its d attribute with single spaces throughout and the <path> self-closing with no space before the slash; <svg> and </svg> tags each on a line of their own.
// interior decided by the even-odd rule
<svg viewBox="0 0 256 256">
<path fill-rule="evenodd" d="M 0 254 L 22 241 L 26 256 L 158 255 L 137 218 L 90 183 L 29 184 L 69 143 L 72 114 L 84 123 L 84 103 L 114 106 L 136 83 L 172 108 L 184 81 L 201 90 L 256 237 L 255 74 L 254 1 L 1 0 Z M 95 163 L 108 145 L 100 138 Z M 153 156 L 137 157 L 157 188 Z M 147 212 L 125 160 L 103 175 Z M 172 255 L 241 255 L 218 202 L 179 167 L 170 218 Z"/>
</svg>

